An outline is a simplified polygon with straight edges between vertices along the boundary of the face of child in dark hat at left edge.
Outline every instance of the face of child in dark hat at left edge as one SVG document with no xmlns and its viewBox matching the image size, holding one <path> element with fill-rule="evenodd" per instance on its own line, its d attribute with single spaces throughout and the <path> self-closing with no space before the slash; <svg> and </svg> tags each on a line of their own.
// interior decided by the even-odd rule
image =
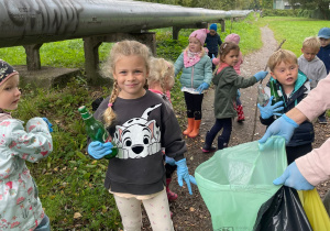
<svg viewBox="0 0 330 231">
<path fill-rule="evenodd" d="M 10 77 L 3 82 L 0 90 L 0 108 L 14 110 L 19 106 L 21 91 L 19 90 L 19 75 Z"/>
</svg>

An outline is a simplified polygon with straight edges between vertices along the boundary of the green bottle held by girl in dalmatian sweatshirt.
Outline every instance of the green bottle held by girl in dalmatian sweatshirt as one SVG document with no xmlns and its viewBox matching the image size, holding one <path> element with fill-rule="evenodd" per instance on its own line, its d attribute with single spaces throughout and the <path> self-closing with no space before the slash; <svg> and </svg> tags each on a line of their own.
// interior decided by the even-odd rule
<svg viewBox="0 0 330 231">
<path fill-rule="evenodd" d="M 85 129 L 87 135 L 92 140 L 92 141 L 99 141 L 101 143 L 106 142 L 111 142 L 111 138 L 106 130 L 103 123 L 100 121 L 96 120 L 86 109 L 86 106 L 81 106 L 78 108 L 78 111 L 80 112 L 84 121 L 85 121 Z M 116 146 L 114 143 L 112 143 L 113 147 L 112 153 L 109 155 L 106 155 L 105 158 L 110 160 L 118 154 L 118 147 Z"/>
</svg>

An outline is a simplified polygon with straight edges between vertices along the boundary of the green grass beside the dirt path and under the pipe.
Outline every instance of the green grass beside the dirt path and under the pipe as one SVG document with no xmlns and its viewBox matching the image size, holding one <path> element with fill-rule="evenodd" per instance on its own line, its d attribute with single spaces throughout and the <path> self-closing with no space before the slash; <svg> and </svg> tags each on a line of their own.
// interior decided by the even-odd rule
<svg viewBox="0 0 330 231">
<path fill-rule="evenodd" d="M 226 31 L 220 35 L 223 41 L 230 33 L 240 34 L 241 51 L 243 55 L 248 55 L 262 46 L 258 26 L 268 24 L 274 30 L 276 40 L 287 38 L 285 47 L 299 47 L 305 36 L 316 34 L 326 23 L 301 19 L 294 22 L 286 20 L 264 18 L 256 22 L 250 15 L 241 22 L 227 21 Z M 218 29 L 220 31 L 220 24 Z M 182 30 L 179 40 L 173 41 L 170 29 L 155 30 L 157 55 L 175 62 L 188 45 L 187 37 L 191 31 L 194 30 Z M 297 35 L 294 35 L 295 31 Z M 84 68 L 82 47 L 82 40 L 44 44 L 41 48 L 42 65 Z M 100 61 L 105 59 L 110 47 L 110 43 L 100 46 Z M 12 65 L 25 64 L 25 53 L 21 46 L 0 48 L 0 57 Z M 121 227 L 120 215 L 112 196 L 103 187 L 107 161 L 94 161 L 86 155 L 86 133 L 77 111 L 81 105 L 90 109 L 96 96 L 107 97 L 111 89 L 90 87 L 84 76 L 77 76 L 62 89 L 22 87 L 22 101 L 13 117 L 23 121 L 36 116 L 47 117 L 54 124 L 54 152 L 37 164 L 28 163 L 37 183 L 43 207 L 52 220 L 53 230 L 117 230 Z M 178 80 L 172 97 L 177 118 L 183 123 L 185 103 Z M 74 215 L 78 215 L 77 212 L 81 217 L 75 219 Z"/>
</svg>

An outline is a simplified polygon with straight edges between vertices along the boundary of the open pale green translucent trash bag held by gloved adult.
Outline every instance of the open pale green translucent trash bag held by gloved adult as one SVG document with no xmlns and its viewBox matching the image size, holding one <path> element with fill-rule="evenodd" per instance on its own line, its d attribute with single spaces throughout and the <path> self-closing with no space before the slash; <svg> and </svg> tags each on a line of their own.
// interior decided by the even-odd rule
<svg viewBox="0 0 330 231">
<path fill-rule="evenodd" d="M 228 147 L 201 163 L 195 177 L 213 230 L 253 230 L 260 207 L 280 187 L 273 180 L 286 166 L 280 136 L 270 138 L 264 145 L 255 141 Z"/>
</svg>

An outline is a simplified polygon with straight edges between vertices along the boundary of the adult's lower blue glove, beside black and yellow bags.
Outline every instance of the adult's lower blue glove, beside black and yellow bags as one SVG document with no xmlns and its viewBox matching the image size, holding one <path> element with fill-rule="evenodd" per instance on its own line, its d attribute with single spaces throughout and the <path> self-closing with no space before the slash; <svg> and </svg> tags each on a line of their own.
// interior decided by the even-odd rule
<svg viewBox="0 0 330 231">
<path fill-rule="evenodd" d="M 301 175 L 296 162 L 287 166 L 282 176 L 274 179 L 273 184 L 285 185 L 297 190 L 311 190 L 315 188 L 315 186 L 310 185 L 309 182 L 307 182 L 306 178 Z"/>
</svg>

